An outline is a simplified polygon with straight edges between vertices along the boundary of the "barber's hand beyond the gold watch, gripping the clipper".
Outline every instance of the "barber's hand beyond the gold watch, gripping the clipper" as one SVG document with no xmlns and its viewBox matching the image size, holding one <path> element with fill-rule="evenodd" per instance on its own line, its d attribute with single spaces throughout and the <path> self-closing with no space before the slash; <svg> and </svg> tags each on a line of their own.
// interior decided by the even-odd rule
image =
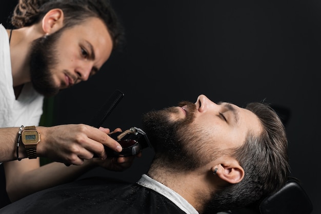
<svg viewBox="0 0 321 214">
<path fill-rule="evenodd" d="M 85 159 L 92 159 L 94 153 L 104 160 L 107 158 L 104 145 L 116 152 L 122 151 L 122 146 L 109 137 L 109 129 L 97 129 L 84 124 L 38 127 L 38 129 L 41 133 L 41 142 L 37 146 L 37 153 L 53 161 L 82 165 Z"/>
</svg>

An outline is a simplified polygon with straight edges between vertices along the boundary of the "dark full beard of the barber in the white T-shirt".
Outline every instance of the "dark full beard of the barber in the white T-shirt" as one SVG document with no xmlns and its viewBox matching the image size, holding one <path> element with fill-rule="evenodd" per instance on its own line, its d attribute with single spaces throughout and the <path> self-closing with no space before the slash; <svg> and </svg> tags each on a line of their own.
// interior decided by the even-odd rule
<svg viewBox="0 0 321 214">
<path fill-rule="evenodd" d="M 56 43 L 62 31 L 46 35 L 33 41 L 30 54 L 30 77 L 34 89 L 45 96 L 59 92 L 50 72 L 57 65 Z"/>
</svg>

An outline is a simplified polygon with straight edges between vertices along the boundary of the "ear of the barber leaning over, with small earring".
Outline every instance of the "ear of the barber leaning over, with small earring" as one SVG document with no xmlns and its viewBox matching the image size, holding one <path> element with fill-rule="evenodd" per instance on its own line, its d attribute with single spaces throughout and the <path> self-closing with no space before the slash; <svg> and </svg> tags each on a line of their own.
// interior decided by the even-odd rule
<svg viewBox="0 0 321 214">
<path fill-rule="evenodd" d="M 64 12 L 61 9 L 52 9 L 43 17 L 42 27 L 45 34 L 51 34 L 64 25 Z"/>
</svg>

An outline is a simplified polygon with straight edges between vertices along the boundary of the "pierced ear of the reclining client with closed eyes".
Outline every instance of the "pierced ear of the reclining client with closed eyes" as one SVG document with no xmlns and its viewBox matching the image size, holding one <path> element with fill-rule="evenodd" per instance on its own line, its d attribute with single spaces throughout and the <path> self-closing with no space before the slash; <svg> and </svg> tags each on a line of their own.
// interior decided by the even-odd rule
<svg viewBox="0 0 321 214">
<path fill-rule="evenodd" d="M 225 163 L 216 165 L 212 167 L 212 171 L 216 172 L 216 176 L 220 179 L 231 184 L 239 183 L 244 178 L 244 169 L 236 160 L 229 160 Z"/>
</svg>

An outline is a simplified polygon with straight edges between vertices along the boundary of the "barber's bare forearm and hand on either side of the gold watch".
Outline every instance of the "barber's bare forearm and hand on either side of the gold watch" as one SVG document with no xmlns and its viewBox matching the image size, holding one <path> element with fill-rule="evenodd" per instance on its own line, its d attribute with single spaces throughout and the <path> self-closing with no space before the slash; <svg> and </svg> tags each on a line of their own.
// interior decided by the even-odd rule
<svg viewBox="0 0 321 214">
<path fill-rule="evenodd" d="M 17 159 L 16 148 L 19 127 L 0 128 L 0 162 Z M 121 145 L 110 138 L 109 129 L 101 130 L 84 125 L 70 124 L 53 127 L 36 127 L 40 142 L 36 146 L 37 157 L 47 157 L 53 161 L 81 165 L 93 154 L 106 159 L 104 145 L 119 152 Z M 25 146 L 19 142 L 19 158 L 26 158 Z"/>
</svg>

